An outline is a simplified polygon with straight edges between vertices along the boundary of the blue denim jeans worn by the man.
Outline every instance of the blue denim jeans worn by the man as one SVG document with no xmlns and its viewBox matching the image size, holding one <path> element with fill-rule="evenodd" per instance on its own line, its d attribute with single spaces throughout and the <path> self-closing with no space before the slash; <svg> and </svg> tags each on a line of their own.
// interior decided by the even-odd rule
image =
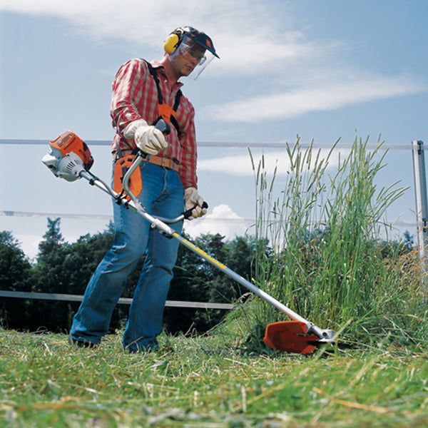
<svg viewBox="0 0 428 428">
<path fill-rule="evenodd" d="M 183 212 L 183 185 L 173 170 L 152 163 L 141 165 L 143 189 L 138 200 L 147 213 L 175 218 Z M 146 260 L 136 285 L 122 345 L 130 352 L 158 349 L 163 310 L 168 295 L 178 242 L 165 238 L 141 215 L 113 203 L 116 232 L 113 245 L 93 273 L 83 301 L 73 317 L 74 340 L 98 344 L 106 335 L 111 315 L 121 297 L 128 275 L 143 255 Z M 181 233 L 183 222 L 170 225 Z"/>
</svg>

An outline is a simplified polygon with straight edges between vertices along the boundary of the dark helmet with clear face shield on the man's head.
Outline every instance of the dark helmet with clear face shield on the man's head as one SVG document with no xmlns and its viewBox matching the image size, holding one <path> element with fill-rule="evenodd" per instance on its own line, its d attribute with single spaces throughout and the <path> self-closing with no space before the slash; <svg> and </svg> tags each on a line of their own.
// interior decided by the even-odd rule
<svg viewBox="0 0 428 428">
<path fill-rule="evenodd" d="M 219 58 L 215 53 L 211 39 L 204 33 L 195 32 L 193 34 L 193 31 L 183 36 L 183 40 L 173 54 L 175 53 L 183 57 L 192 58 L 193 61 L 198 61 L 189 75 L 193 80 L 196 80 L 200 76 L 200 73 L 207 68 L 214 57 Z"/>
</svg>

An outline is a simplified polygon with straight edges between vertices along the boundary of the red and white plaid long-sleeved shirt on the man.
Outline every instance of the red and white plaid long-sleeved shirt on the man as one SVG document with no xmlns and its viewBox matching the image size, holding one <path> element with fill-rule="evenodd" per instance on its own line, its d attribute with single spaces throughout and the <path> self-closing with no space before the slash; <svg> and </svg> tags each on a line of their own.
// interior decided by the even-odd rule
<svg viewBox="0 0 428 428">
<path fill-rule="evenodd" d="M 170 87 L 165 69 L 160 63 L 154 62 L 159 76 L 163 102 L 173 106 L 178 89 L 183 83 L 175 83 Z M 156 83 L 148 71 L 148 66 L 142 59 L 131 59 L 119 68 L 113 81 L 113 95 L 111 97 L 110 115 L 113 119 L 113 128 L 116 136 L 113 138 L 111 151 L 116 151 L 116 144 L 121 149 L 135 148 L 136 143 L 123 136 L 128 123 L 138 119 L 144 119 L 147 123 L 153 123 L 158 118 L 158 90 Z M 180 98 L 175 119 L 178 122 L 180 133 L 171 125 L 171 132 L 165 136 L 168 147 L 158 156 L 172 159 L 180 164 L 181 182 L 183 188 L 197 188 L 196 177 L 196 137 L 195 137 L 195 109 L 192 103 L 184 95 Z"/>
</svg>

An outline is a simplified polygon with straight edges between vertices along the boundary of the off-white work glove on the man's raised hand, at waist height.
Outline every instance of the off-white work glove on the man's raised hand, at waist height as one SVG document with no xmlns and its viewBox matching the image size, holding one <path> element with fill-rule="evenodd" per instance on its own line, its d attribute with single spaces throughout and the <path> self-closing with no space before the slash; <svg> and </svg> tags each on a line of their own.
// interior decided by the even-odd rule
<svg viewBox="0 0 428 428">
<path fill-rule="evenodd" d="M 138 119 L 126 126 L 123 136 L 136 142 L 136 146 L 149 155 L 156 156 L 161 150 L 168 147 L 163 133 L 155 126 L 148 125 L 144 119 Z"/>
</svg>

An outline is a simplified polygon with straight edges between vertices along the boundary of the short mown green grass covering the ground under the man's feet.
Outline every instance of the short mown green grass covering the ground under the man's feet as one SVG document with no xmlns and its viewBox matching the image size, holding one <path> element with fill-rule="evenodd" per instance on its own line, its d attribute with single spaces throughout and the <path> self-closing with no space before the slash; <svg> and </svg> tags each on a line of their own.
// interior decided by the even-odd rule
<svg viewBox="0 0 428 428">
<path fill-rule="evenodd" d="M 161 335 L 128 355 L 66 335 L 0 330 L 0 424 L 7 427 L 425 427 L 427 353 L 245 352 L 238 333 Z"/>
</svg>

